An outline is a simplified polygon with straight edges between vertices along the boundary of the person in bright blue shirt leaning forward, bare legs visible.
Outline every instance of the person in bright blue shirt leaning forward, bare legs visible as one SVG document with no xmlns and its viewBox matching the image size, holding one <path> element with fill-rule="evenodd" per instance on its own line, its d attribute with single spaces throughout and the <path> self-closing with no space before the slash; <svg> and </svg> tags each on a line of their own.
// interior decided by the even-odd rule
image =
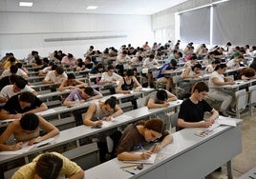
<svg viewBox="0 0 256 179">
<path fill-rule="evenodd" d="M 166 84 L 166 90 L 170 90 L 170 87 L 174 86 L 173 80 L 172 80 L 173 78 L 165 77 L 164 74 L 162 74 L 162 72 L 164 72 L 165 70 L 176 70 L 176 69 L 177 69 L 177 61 L 175 59 L 172 59 L 170 63 L 164 64 L 160 68 L 160 73 L 158 75 L 158 82 Z"/>
</svg>

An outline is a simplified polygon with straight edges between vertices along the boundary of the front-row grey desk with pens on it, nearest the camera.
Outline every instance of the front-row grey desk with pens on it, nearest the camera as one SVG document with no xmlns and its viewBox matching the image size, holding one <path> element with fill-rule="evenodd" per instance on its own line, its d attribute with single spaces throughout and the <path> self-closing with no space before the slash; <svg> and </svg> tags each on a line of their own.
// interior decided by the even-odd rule
<svg viewBox="0 0 256 179">
<path fill-rule="evenodd" d="M 241 123 L 238 127 L 221 126 L 205 137 L 196 136 L 198 129 L 182 129 L 173 133 L 173 142 L 176 151 L 159 153 L 153 165 L 144 165 L 132 175 L 119 169 L 127 166 L 117 158 L 103 163 L 95 168 L 86 170 L 85 179 L 187 179 L 203 178 L 214 169 L 227 163 L 228 178 L 232 178 L 231 159 L 242 151 Z"/>
</svg>

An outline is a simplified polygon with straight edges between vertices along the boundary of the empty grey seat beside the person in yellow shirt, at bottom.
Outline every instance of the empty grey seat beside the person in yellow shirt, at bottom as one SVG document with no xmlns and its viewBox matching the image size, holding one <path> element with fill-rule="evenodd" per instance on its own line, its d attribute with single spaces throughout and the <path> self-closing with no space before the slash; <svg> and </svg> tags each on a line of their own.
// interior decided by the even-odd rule
<svg viewBox="0 0 256 179">
<path fill-rule="evenodd" d="M 74 161 L 83 170 L 93 168 L 99 164 L 99 151 L 96 143 L 80 146 L 62 154 Z"/>
</svg>

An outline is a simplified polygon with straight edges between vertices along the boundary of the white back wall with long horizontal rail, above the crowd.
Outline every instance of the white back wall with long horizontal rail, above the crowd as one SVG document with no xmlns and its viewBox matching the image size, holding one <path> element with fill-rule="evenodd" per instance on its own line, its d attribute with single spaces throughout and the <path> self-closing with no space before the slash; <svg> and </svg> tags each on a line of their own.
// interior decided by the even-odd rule
<svg viewBox="0 0 256 179">
<path fill-rule="evenodd" d="M 32 50 L 48 56 L 53 50 L 82 57 L 89 46 L 96 50 L 153 41 L 149 15 L 0 12 L 0 54 L 24 58 Z M 127 35 L 124 38 L 45 42 L 48 38 Z"/>
</svg>

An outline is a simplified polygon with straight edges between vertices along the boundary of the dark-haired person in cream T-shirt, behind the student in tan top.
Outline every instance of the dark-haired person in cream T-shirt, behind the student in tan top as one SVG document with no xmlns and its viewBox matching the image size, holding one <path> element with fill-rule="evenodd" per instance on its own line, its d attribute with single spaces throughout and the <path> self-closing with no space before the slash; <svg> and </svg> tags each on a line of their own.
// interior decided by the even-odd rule
<svg viewBox="0 0 256 179">
<path fill-rule="evenodd" d="M 57 67 L 55 70 L 50 70 L 46 74 L 43 84 L 58 84 L 67 78 L 68 76 L 64 69 L 62 67 Z"/>
</svg>

